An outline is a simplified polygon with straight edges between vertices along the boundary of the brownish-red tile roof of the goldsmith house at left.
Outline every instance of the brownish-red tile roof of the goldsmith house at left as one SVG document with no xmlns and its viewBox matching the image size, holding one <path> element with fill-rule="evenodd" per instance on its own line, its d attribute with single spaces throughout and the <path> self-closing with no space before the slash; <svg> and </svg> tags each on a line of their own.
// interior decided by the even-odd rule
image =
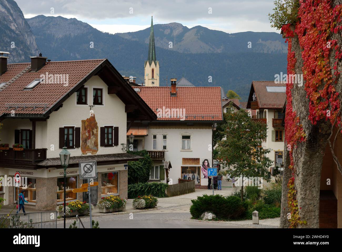
<svg viewBox="0 0 342 252">
<path fill-rule="evenodd" d="M 58 61 L 46 62 L 45 66 L 37 72 L 28 70 L 13 83 L 0 91 L 0 115 L 3 113 L 11 113 L 13 108 L 8 108 L 6 103 L 41 103 L 46 104 L 43 108 L 32 107 L 15 109 L 16 113 L 23 114 L 43 114 L 50 109 L 58 100 L 66 95 L 73 87 L 75 87 L 82 79 L 89 75 L 98 65 L 104 62 L 99 60 L 78 60 L 78 61 Z M 30 63 L 8 64 L 8 71 L 0 76 L 0 83 L 10 81 L 14 76 L 20 73 Z M 39 83 L 32 90 L 24 90 L 40 75 L 48 74 L 68 74 L 68 86 L 62 84 L 43 84 Z"/>
</svg>

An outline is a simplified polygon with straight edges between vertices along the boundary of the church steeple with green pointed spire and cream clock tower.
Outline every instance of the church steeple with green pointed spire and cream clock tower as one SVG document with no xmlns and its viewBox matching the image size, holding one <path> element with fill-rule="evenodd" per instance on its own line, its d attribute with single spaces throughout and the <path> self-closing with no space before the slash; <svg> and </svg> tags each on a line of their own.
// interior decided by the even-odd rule
<svg viewBox="0 0 342 252">
<path fill-rule="evenodd" d="M 145 61 L 144 82 L 147 87 L 159 86 L 159 61 L 156 57 L 154 44 L 153 17 L 151 17 L 150 39 L 148 43 L 148 57 Z"/>
</svg>

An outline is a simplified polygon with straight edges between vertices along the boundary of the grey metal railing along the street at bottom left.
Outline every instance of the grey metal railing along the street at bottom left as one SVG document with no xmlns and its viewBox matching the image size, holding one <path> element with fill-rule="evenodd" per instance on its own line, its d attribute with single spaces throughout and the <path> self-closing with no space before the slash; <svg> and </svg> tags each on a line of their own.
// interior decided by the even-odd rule
<svg viewBox="0 0 342 252">
<path fill-rule="evenodd" d="M 0 228 L 57 228 L 57 211 L 0 214 Z"/>
</svg>

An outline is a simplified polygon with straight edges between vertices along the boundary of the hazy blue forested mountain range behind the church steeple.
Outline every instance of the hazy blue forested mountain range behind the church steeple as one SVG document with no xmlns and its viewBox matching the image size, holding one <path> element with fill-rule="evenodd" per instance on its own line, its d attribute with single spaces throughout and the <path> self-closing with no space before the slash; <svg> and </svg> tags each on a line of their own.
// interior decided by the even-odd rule
<svg viewBox="0 0 342 252">
<path fill-rule="evenodd" d="M 109 34 L 76 18 L 38 15 L 25 20 L 13 0 L 7 1 L 12 4 L 4 2 L 0 0 L 0 22 L 4 23 L 0 31 L 6 40 L 0 40 L 0 51 L 11 52 L 10 62 L 29 62 L 29 56 L 39 52 L 53 61 L 107 58 L 122 75 L 143 82 L 149 28 Z M 4 15 L 11 19 L 2 18 Z M 252 80 L 273 80 L 275 74 L 286 73 L 287 45 L 277 33 L 228 34 L 170 23 L 154 25 L 154 34 L 161 86 L 166 85 L 166 78 L 184 76 L 195 86 L 222 86 L 225 92 L 232 89 L 243 101 Z M 10 48 L 10 40 L 22 41 L 21 47 Z"/>
</svg>

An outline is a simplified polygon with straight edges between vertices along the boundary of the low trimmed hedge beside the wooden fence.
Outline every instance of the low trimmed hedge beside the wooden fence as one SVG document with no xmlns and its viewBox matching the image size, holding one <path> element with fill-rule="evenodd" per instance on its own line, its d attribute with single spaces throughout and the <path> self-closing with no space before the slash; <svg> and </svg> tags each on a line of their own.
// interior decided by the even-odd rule
<svg viewBox="0 0 342 252">
<path fill-rule="evenodd" d="M 137 183 L 128 185 L 128 198 L 134 199 L 140 195 L 152 195 L 158 198 L 167 197 L 165 190 L 168 188 L 166 183 Z"/>
</svg>

